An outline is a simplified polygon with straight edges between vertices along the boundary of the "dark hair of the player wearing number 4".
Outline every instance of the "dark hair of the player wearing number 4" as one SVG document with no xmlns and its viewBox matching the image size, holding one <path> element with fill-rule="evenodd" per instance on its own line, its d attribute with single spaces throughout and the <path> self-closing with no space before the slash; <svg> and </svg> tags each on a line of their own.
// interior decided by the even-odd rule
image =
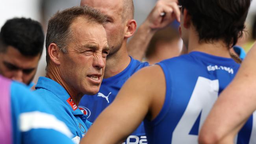
<svg viewBox="0 0 256 144">
<path fill-rule="evenodd" d="M 223 40 L 230 48 L 242 36 L 251 0 L 178 0 L 187 9 L 199 41 Z"/>
</svg>

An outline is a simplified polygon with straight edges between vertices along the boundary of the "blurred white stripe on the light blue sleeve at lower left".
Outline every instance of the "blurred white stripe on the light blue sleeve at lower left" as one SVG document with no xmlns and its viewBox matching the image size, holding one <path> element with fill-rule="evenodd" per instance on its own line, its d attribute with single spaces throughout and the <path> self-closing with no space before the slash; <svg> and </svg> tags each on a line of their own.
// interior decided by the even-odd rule
<svg viewBox="0 0 256 144">
<path fill-rule="evenodd" d="M 71 138 L 72 133 L 64 122 L 58 120 L 54 115 L 33 111 L 21 113 L 19 118 L 20 131 L 26 132 L 31 129 L 54 129 Z"/>
</svg>

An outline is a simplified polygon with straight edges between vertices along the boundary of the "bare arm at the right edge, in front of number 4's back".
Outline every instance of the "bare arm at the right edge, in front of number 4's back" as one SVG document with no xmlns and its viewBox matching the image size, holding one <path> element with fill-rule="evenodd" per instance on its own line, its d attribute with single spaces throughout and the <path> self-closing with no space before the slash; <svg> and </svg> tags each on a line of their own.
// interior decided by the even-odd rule
<svg viewBox="0 0 256 144">
<path fill-rule="evenodd" d="M 256 109 L 256 44 L 243 61 L 236 77 L 221 93 L 206 119 L 199 142 L 233 143 L 239 129 Z"/>
</svg>

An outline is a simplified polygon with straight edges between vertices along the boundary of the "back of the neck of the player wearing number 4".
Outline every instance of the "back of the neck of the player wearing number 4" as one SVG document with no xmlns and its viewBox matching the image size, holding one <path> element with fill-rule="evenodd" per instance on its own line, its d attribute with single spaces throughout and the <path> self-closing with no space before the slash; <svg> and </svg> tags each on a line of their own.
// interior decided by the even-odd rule
<svg viewBox="0 0 256 144">
<path fill-rule="evenodd" d="M 199 42 L 198 36 L 195 33 L 189 35 L 188 53 L 193 51 L 230 58 L 229 49 L 223 41 Z"/>
</svg>

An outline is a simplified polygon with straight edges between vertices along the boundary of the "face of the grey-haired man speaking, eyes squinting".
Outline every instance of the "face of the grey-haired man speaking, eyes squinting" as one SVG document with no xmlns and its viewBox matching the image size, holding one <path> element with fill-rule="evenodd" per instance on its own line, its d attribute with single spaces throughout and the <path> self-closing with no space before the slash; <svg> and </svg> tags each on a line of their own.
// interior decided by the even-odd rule
<svg viewBox="0 0 256 144">
<path fill-rule="evenodd" d="M 76 18 L 70 30 L 68 54 L 60 55 L 61 77 L 75 93 L 96 94 L 109 53 L 106 31 L 102 25 L 88 23 L 83 17 Z"/>
</svg>

